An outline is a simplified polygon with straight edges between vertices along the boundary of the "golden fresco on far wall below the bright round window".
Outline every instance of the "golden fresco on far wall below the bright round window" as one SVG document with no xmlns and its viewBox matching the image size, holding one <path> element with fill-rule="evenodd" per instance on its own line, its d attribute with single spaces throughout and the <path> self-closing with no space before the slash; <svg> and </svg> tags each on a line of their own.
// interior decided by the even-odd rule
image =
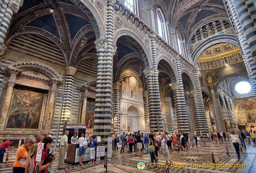
<svg viewBox="0 0 256 173">
<path fill-rule="evenodd" d="M 256 101 L 248 100 L 237 107 L 238 123 L 245 126 L 248 123 L 256 123 Z"/>
</svg>

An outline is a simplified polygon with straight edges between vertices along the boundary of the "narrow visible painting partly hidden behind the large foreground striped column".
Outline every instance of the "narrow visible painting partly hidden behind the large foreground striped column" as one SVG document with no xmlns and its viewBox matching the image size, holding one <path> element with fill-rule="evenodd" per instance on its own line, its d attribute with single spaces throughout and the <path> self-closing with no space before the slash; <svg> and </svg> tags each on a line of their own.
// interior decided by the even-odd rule
<svg viewBox="0 0 256 173">
<path fill-rule="evenodd" d="M 94 109 L 95 109 L 95 100 L 87 100 L 87 112 L 85 116 L 85 125 L 87 129 L 92 129 L 94 126 Z"/>
</svg>

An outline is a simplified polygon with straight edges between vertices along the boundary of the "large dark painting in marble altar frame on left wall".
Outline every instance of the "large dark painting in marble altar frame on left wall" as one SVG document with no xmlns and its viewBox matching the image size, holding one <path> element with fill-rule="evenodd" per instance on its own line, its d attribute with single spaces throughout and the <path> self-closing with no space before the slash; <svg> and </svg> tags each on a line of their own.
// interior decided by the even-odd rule
<svg viewBox="0 0 256 173">
<path fill-rule="evenodd" d="M 44 93 L 15 89 L 6 128 L 39 129 Z"/>
</svg>

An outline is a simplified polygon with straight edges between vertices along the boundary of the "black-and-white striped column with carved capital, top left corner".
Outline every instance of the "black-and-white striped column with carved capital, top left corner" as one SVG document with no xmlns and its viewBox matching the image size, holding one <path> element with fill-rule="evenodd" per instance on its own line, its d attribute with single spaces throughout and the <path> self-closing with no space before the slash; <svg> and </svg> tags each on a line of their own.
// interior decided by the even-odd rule
<svg viewBox="0 0 256 173">
<path fill-rule="evenodd" d="M 0 51 L 2 50 L 8 28 L 11 25 L 12 16 L 14 13 L 17 13 L 20 8 L 20 2 L 21 0 L 2 0 L 0 2 Z"/>
</svg>

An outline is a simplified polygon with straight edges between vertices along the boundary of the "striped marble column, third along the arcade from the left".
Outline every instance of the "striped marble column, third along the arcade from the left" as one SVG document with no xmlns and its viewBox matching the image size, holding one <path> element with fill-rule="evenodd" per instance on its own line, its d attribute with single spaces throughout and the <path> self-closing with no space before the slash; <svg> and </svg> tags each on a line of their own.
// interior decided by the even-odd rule
<svg viewBox="0 0 256 173">
<path fill-rule="evenodd" d="M 174 92 L 174 105 L 176 110 L 178 131 L 189 132 L 183 83 L 172 83 L 170 86 Z"/>
</svg>

